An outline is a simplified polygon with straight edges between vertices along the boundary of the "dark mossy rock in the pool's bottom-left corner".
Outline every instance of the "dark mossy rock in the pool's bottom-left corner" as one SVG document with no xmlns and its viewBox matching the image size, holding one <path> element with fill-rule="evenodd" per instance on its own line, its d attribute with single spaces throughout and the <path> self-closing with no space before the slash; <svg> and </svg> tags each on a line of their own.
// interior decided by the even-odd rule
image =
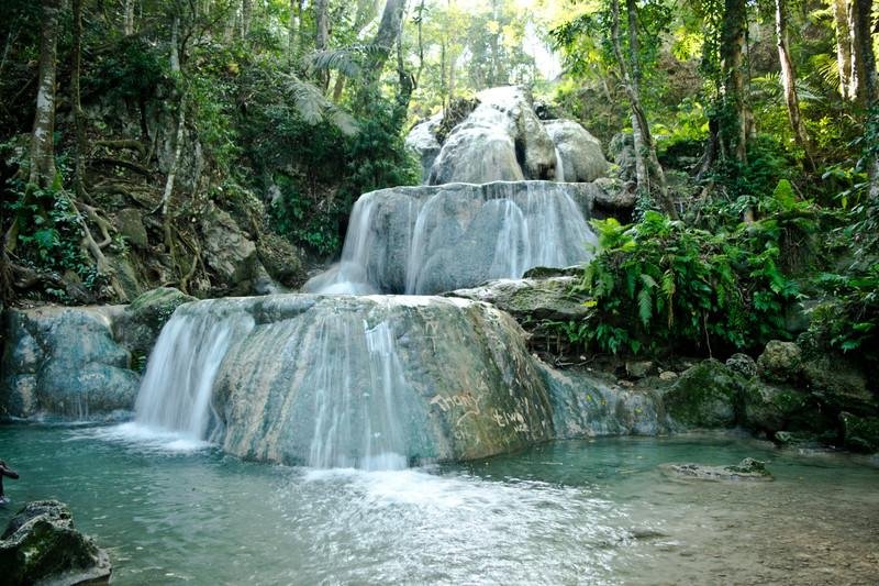
<svg viewBox="0 0 879 586">
<path fill-rule="evenodd" d="M 74 529 L 70 509 L 57 500 L 29 502 L 0 537 L 3 584 L 82 584 L 110 577 L 110 559 Z"/>
</svg>

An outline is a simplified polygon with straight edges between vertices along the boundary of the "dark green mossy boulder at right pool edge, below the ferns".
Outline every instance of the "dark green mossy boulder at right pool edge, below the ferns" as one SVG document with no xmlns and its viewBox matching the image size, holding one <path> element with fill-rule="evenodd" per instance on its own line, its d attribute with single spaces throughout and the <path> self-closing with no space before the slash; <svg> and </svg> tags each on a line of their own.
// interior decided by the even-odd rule
<svg viewBox="0 0 879 586">
<path fill-rule="evenodd" d="M 728 428 L 736 424 L 743 379 L 709 358 L 681 373 L 663 400 L 674 421 L 685 427 Z"/>
</svg>

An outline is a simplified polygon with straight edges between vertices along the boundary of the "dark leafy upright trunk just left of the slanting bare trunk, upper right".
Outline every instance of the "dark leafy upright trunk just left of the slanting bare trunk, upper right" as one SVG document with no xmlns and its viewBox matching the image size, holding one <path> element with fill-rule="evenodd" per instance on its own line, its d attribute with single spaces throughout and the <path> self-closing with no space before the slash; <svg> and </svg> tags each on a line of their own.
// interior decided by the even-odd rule
<svg viewBox="0 0 879 586">
<path fill-rule="evenodd" d="M 724 120 L 721 140 L 725 151 L 747 164 L 748 120 L 744 71 L 747 4 L 745 0 L 725 0 L 721 23 L 721 75 L 723 76 Z"/>
</svg>

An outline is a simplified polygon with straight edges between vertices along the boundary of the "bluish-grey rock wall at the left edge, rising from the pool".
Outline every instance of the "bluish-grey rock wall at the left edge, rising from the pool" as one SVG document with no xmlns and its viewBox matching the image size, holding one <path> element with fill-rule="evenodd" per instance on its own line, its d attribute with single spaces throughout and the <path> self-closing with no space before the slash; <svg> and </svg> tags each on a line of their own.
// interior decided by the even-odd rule
<svg viewBox="0 0 879 586">
<path fill-rule="evenodd" d="M 74 419 L 131 409 L 140 377 L 111 332 L 121 307 L 7 312 L 0 417 Z"/>
</svg>

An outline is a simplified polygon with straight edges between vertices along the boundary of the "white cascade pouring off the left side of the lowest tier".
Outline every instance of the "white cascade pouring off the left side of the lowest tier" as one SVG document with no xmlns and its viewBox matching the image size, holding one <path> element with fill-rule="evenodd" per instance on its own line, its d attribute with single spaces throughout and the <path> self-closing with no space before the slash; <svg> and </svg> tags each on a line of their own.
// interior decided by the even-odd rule
<svg viewBox="0 0 879 586">
<path fill-rule="evenodd" d="M 203 302 L 210 309 L 213 301 Z M 162 329 L 135 405 L 135 421 L 177 432 L 190 440 L 207 440 L 219 421 L 211 394 L 220 365 L 232 343 L 249 332 L 247 313 L 216 314 L 180 307 Z"/>
</svg>

